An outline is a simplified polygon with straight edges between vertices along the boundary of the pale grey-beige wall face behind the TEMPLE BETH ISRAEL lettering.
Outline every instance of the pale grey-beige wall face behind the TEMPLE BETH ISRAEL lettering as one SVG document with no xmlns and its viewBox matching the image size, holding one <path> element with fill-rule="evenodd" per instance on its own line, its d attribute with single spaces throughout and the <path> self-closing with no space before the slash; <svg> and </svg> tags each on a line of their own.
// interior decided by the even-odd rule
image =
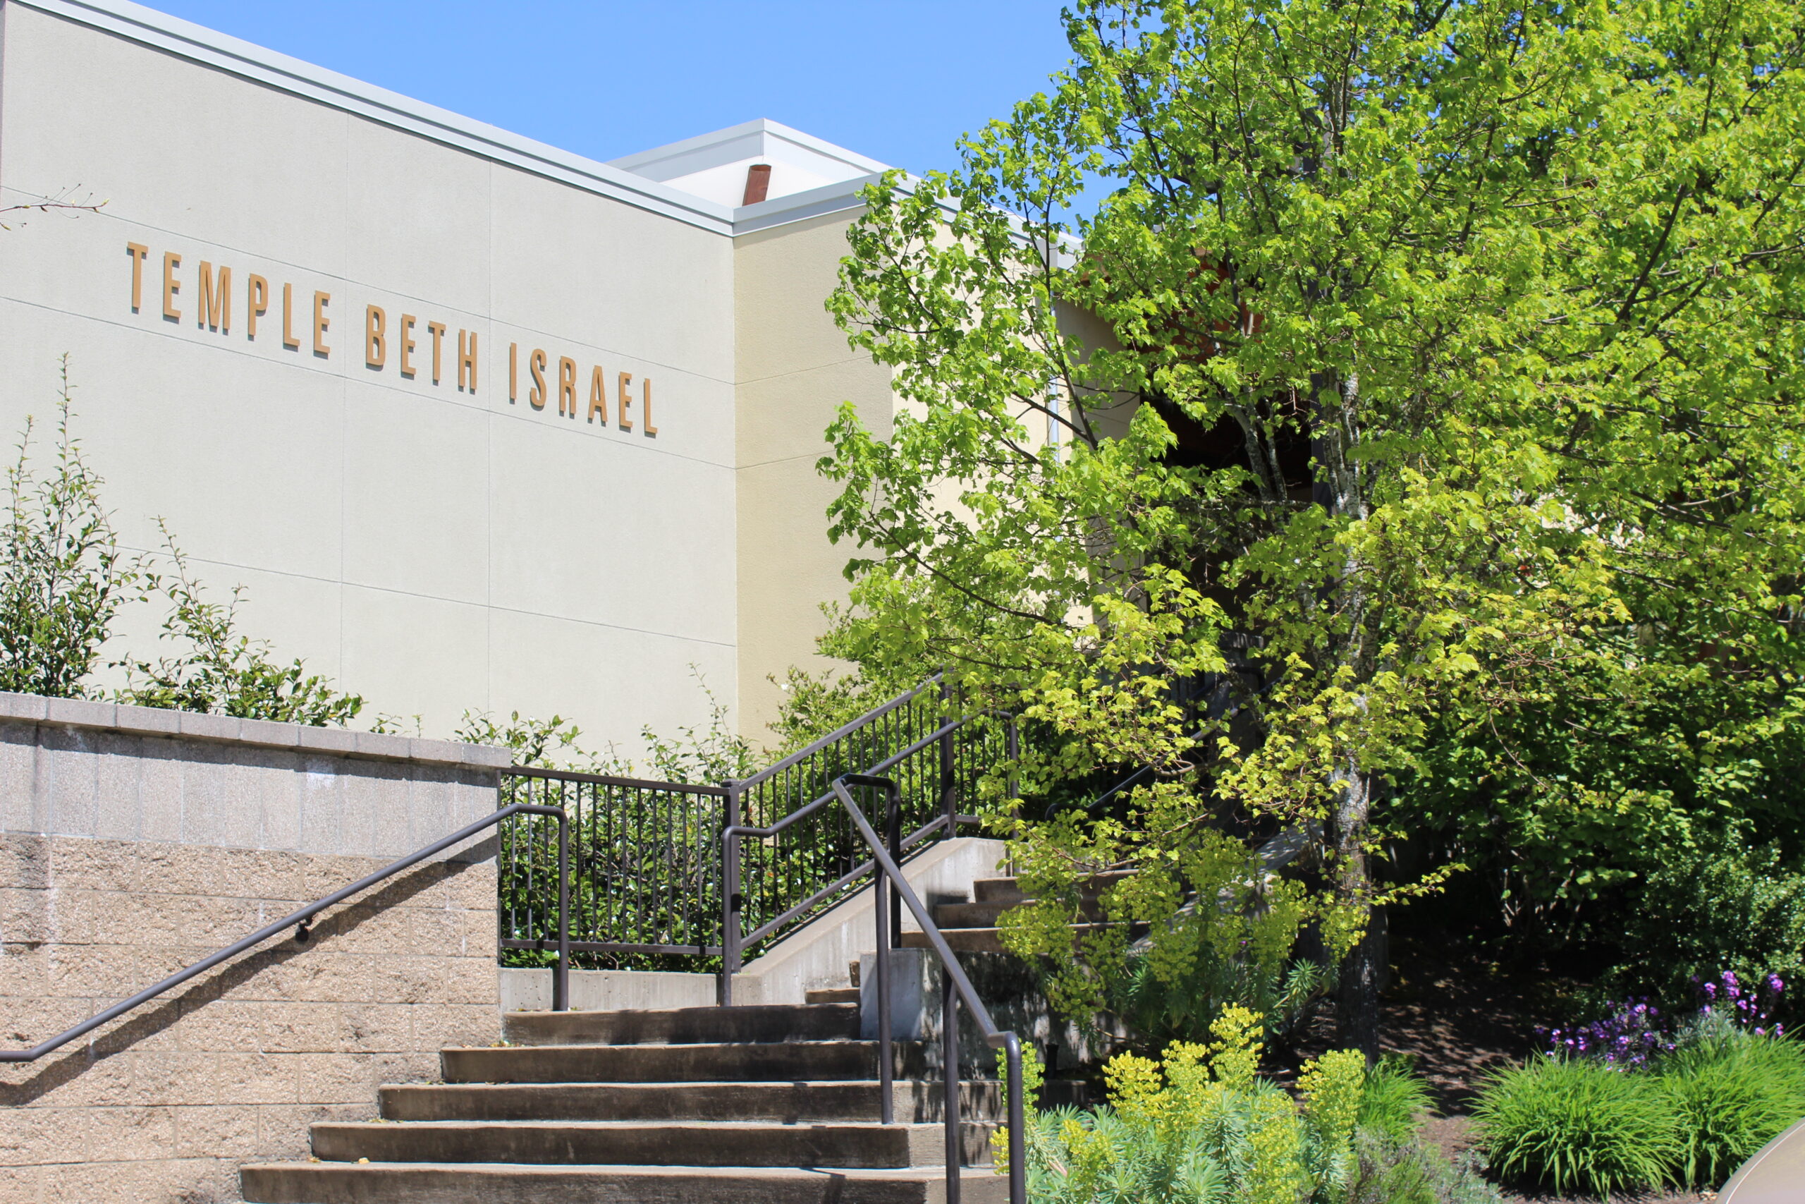
<svg viewBox="0 0 1805 1204">
<path fill-rule="evenodd" d="M 632 742 L 706 715 L 691 664 L 735 697 L 731 238 L 25 4 L 0 13 L 0 204 L 105 200 L 0 231 L 0 435 L 29 413 L 43 446 L 67 352 L 123 542 L 155 549 L 168 520 L 215 596 L 247 587 L 251 634 L 426 733 L 518 708 Z M 202 262 L 231 269 L 218 329 L 199 320 Z M 255 338 L 253 274 L 271 292 Z M 446 327 L 437 383 L 428 323 Z M 477 336 L 473 390 L 458 330 Z M 554 381 L 572 359 L 576 417 L 529 403 L 532 348 Z M 123 625 L 141 655 L 155 619 Z"/>
</svg>

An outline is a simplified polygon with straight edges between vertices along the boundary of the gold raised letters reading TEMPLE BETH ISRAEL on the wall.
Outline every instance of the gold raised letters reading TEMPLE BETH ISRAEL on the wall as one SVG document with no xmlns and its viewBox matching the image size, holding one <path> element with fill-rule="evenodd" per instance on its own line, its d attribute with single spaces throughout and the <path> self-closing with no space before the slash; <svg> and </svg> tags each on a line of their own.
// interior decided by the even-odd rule
<svg viewBox="0 0 1805 1204">
<path fill-rule="evenodd" d="M 150 258 L 150 247 L 141 242 L 125 244 L 126 255 L 132 256 L 132 312 L 135 314 L 144 300 L 144 262 Z M 170 321 L 180 321 L 180 292 L 182 280 L 177 276 L 182 267 L 182 256 L 177 251 L 162 253 L 162 316 Z M 200 260 L 195 273 L 195 287 L 191 296 L 195 298 L 195 325 L 218 330 L 220 334 L 231 332 L 231 267 L 220 265 L 213 267 L 208 260 Z M 251 273 L 245 276 L 245 307 L 244 307 L 244 330 L 245 338 L 256 338 L 256 327 L 262 318 L 269 314 L 271 305 L 271 285 L 265 276 Z M 282 285 L 282 345 L 289 350 L 301 348 L 301 336 L 309 336 L 312 341 L 314 356 L 321 359 L 332 357 L 332 345 L 327 343 L 327 332 L 332 329 L 332 318 L 329 316 L 329 307 L 332 305 L 332 294 L 316 289 L 312 294 L 312 312 L 307 314 L 307 300 L 303 298 L 303 329 L 296 334 L 294 320 L 294 285 Z M 417 332 L 424 330 L 424 339 L 417 338 Z M 388 320 L 388 310 L 381 305 L 363 307 L 363 363 L 368 368 L 383 370 L 388 366 L 390 348 L 395 356 L 395 370 L 406 379 L 415 379 L 421 370 L 431 372 L 433 384 L 439 384 L 444 375 L 444 352 L 446 352 L 446 334 L 449 329 L 440 321 L 422 323 L 413 314 L 399 314 L 393 325 Z M 421 343 L 426 341 L 430 350 L 424 361 L 417 361 L 415 354 L 421 350 Z M 520 399 L 520 343 L 507 345 L 507 401 L 516 403 Z M 603 426 L 608 424 L 608 375 L 603 372 L 601 365 L 594 365 L 588 374 L 588 406 L 579 408 L 578 394 L 578 363 L 569 356 L 558 357 L 556 381 L 551 379 L 551 357 L 543 348 L 534 347 L 525 356 L 527 374 L 532 377 L 532 384 L 527 388 L 527 404 L 534 410 L 543 410 L 545 403 L 552 395 L 558 397 L 558 413 L 574 419 L 579 412 L 585 412 L 590 422 L 601 421 Z M 464 394 L 477 392 L 477 368 L 478 368 L 478 347 L 475 330 L 457 332 L 457 388 Z M 634 374 L 617 372 L 614 377 L 614 417 L 616 426 L 623 431 L 634 430 L 634 404 L 639 406 L 639 430 L 650 437 L 657 437 L 659 428 L 652 424 L 652 377 L 641 377 L 639 395 L 634 397 Z"/>
</svg>

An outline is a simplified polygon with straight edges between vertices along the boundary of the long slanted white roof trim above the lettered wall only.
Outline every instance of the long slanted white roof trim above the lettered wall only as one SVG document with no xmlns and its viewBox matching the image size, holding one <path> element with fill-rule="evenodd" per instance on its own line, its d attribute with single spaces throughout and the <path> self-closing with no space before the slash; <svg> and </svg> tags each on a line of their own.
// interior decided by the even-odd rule
<svg viewBox="0 0 1805 1204">
<path fill-rule="evenodd" d="M 532 171 L 572 188 L 623 200 L 720 235 L 735 233 L 733 209 L 606 162 L 462 117 L 336 70 L 157 13 L 130 0 L 0 0 L 101 29 L 253 83 L 329 105 L 444 146 Z"/>
</svg>

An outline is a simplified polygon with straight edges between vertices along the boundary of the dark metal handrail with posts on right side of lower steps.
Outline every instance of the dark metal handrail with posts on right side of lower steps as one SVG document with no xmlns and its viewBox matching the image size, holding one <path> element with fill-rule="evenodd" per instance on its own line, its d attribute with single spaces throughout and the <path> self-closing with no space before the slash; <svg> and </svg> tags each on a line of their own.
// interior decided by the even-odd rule
<svg viewBox="0 0 1805 1204">
<path fill-rule="evenodd" d="M 915 888 L 910 886 L 908 879 L 902 875 L 902 868 L 897 865 L 890 850 L 884 848 L 884 841 L 877 836 L 872 821 L 865 818 L 859 805 L 852 801 L 852 794 L 847 791 L 847 783 L 883 787 L 884 801 L 888 810 L 888 829 L 892 847 L 901 843 L 901 834 L 897 830 L 899 814 L 902 809 L 902 787 L 895 778 L 881 778 L 875 774 L 848 773 L 834 778 L 834 798 L 847 809 L 852 823 L 859 829 L 859 836 L 872 848 L 872 892 L 875 897 L 877 912 L 877 1083 L 879 1083 L 879 1108 L 884 1125 L 895 1123 L 895 1101 L 893 1096 L 893 1065 L 892 1065 L 892 1038 L 890 1038 L 890 946 L 892 946 L 892 919 L 890 919 L 890 895 L 895 894 L 915 915 L 915 922 L 921 924 L 922 933 L 928 937 L 928 944 L 933 946 L 935 955 L 940 959 L 940 1078 L 942 1088 L 946 1092 L 946 1103 L 942 1114 L 946 1117 L 946 1204 L 958 1204 L 960 1197 L 960 1162 L 962 1162 L 962 1143 L 958 1134 L 958 1004 L 964 1002 L 971 1011 L 971 1018 L 977 1020 L 978 1031 L 984 1033 L 984 1043 L 991 1049 L 1002 1049 L 1004 1060 L 1007 1063 L 1007 1090 L 1009 1090 L 1009 1204 L 1027 1204 L 1027 1162 L 1023 1161 L 1023 1125 L 1025 1125 L 1025 1103 L 1022 1099 L 1022 1040 L 1014 1033 L 1004 1033 L 991 1020 L 989 1009 L 984 1000 L 978 998 L 977 989 L 971 986 L 971 978 L 966 977 L 964 968 L 953 955 L 953 948 L 940 935 L 940 928 L 933 922 L 933 915 L 922 904 Z M 780 823 L 769 829 L 753 827 L 729 827 L 722 832 L 724 839 L 736 839 L 740 836 L 767 838 L 774 836 L 792 816 L 787 816 Z M 888 879 L 890 890 L 884 890 Z"/>
</svg>

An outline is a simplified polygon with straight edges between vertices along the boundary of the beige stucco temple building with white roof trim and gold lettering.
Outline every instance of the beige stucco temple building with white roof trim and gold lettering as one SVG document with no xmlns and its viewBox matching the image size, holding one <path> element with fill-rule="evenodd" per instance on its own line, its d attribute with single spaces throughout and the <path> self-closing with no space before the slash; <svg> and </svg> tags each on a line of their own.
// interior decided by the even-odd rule
<svg viewBox="0 0 1805 1204">
<path fill-rule="evenodd" d="M 123 543 L 166 520 L 249 634 L 426 735 L 630 747 L 706 717 L 695 666 L 756 736 L 843 588 L 821 431 L 890 421 L 823 312 L 881 170 L 769 121 L 592 162 L 125 0 L 0 0 L 0 206 L 105 202 L 4 218 L 0 433 L 34 415 L 47 462 L 67 352 Z"/>
</svg>

